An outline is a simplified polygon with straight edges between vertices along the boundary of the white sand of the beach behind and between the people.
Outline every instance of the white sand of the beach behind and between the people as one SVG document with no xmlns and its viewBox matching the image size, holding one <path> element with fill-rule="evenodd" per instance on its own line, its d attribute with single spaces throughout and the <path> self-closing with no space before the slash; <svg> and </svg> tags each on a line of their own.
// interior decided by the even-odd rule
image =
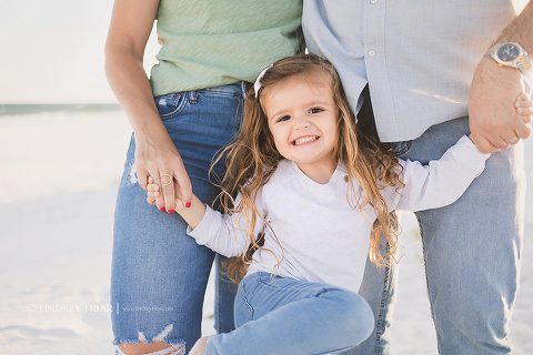
<svg viewBox="0 0 533 355">
<path fill-rule="evenodd" d="M 0 118 L 0 354 L 112 354 L 109 278 L 123 113 Z M 533 182 L 533 140 L 526 142 Z M 533 203 L 533 193 L 527 193 Z M 393 353 L 436 354 L 420 237 L 404 220 Z M 533 354 L 533 211 L 526 209 L 514 354 Z M 212 334 L 212 285 L 204 333 Z"/>
</svg>

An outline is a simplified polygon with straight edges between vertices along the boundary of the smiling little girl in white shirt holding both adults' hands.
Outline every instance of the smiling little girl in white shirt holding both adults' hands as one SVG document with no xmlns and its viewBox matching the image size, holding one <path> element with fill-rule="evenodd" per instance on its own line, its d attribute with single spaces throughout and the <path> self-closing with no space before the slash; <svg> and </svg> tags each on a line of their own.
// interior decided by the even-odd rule
<svg viewBox="0 0 533 355">
<path fill-rule="evenodd" d="M 533 113 L 525 95 L 515 106 Z M 428 166 L 395 159 L 360 131 L 334 68 L 314 54 L 280 60 L 260 74 L 224 154 L 225 214 L 177 197 L 197 243 L 241 256 L 229 273 L 245 273 L 237 329 L 201 338 L 194 355 L 328 354 L 363 342 L 374 321 L 358 291 L 369 251 L 386 263 L 396 250 L 389 213 L 453 203 L 489 156 L 463 136 Z M 155 203 L 159 189 L 149 184 L 148 202 Z M 380 235 L 390 244 L 386 255 L 379 253 Z"/>
</svg>

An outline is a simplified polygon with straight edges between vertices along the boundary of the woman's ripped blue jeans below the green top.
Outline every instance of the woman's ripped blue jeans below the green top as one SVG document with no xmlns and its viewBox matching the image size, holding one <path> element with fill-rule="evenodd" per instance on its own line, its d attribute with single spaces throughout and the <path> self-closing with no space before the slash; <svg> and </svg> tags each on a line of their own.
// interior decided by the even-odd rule
<svg viewBox="0 0 533 355">
<path fill-rule="evenodd" d="M 154 98 L 192 190 L 203 202 L 218 190 L 209 181 L 213 155 L 235 135 L 242 116 L 243 82 Z M 111 305 L 114 343 L 145 339 L 187 344 L 201 336 L 202 304 L 214 253 L 187 235 L 178 214 L 147 203 L 134 170 L 134 138 L 128 151 L 115 209 Z M 224 163 L 217 166 L 223 172 Z M 228 285 L 218 283 L 228 297 Z M 217 304 L 221 332 L 233 327 L 233 303 Z M 225 326 L 225 328 L 224 328 Z"/>
</svg>

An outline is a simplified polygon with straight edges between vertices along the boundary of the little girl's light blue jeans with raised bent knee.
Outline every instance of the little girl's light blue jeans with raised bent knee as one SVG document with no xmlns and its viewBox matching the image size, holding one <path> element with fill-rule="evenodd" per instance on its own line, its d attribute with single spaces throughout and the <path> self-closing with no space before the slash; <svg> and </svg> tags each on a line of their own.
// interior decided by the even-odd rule
<svg viewBox="0 0 533 355">
<path fill-rule="evenodd" d="M 338 354 L 364 341 L 374 317 L 351 291 L 259 272 L 239 284 L 235 324 L 208 338 L 208 355 Z"/>
</svg>

